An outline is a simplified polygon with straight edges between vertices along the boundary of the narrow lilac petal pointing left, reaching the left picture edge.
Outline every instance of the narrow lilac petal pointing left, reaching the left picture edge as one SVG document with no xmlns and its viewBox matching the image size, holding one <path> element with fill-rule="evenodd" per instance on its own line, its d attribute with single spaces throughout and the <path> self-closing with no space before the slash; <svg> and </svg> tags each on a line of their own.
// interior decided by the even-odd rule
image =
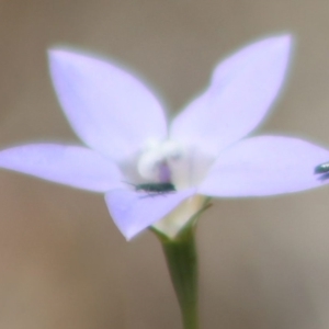
<svg viewBox="0 0 329 329">
<path fill-rule="evenodd" d="M 32 174 L 93 192 L 122 185 L 117 167 L 93 150 L 78 146 L 31 144 L 0 151 L 0 168 Z"/>
</svg>

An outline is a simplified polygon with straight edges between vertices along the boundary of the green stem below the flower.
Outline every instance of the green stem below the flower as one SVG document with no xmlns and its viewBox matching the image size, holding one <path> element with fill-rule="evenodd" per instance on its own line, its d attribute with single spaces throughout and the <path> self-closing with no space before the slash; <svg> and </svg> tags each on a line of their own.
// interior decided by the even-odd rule
<svg viewBox="0 0 329 329">
<path fill-rule="evenodd" d="M 180 304 L 183 328 L 197 329 L 197 258 L 194 232 L 162 241 L 171 281 Z"/>
</svg>

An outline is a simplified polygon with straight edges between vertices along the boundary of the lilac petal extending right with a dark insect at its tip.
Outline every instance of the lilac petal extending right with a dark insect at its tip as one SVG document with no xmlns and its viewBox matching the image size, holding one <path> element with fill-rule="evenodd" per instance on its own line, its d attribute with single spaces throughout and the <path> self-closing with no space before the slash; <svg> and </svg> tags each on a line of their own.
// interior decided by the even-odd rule
<svg viewBox="0 0 329 329">
<path fill-rule="evenodd" d="M 315 167 L 329 151 L 288 137 L 260 136 L 237 143 L 219 155 L 198 193 L 212 196 L 265 196 L 324 184 Z"/>
</svg>

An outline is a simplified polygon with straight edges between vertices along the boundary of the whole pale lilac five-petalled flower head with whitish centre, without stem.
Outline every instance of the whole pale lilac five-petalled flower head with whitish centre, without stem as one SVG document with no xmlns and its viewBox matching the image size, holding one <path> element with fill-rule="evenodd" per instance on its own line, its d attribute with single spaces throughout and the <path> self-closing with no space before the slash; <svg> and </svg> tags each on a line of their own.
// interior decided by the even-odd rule
<svg viewBox="0 0 329 329">
<path fill-rule="evenodd" d="M 173 237 L 204 196 L 265 196 L 319 186 L 314 168 L 329 159 L 328 150 L 297 138 L 246 137 L 279 94 L 291 43 L 288 35 L 270 37 L 229 56 L 169 127 L 155 93 L 127 70 L 52 49 L 55 90 L 84 146 L 18 146 L 0 152 L 0 167 L 105 193 L 127 239 L 150 225 Z M 150 194 L 134 186 L 169 181 L 177 192 Z"/>
</svg>

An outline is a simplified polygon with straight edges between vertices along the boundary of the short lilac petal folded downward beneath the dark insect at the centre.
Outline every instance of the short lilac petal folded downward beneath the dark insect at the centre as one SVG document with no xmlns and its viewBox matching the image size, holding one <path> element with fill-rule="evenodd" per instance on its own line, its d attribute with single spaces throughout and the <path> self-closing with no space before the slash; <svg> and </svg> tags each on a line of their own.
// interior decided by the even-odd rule
<svg viewBox="0 0 329 329">
<path fill-rule="evenodd" d="M 195 189 L 175 193 L 147 194 L 129 190 L 112 190 L 105 195 L 110 214 L 127 240 L 163 218 Z"/>
</svg>

